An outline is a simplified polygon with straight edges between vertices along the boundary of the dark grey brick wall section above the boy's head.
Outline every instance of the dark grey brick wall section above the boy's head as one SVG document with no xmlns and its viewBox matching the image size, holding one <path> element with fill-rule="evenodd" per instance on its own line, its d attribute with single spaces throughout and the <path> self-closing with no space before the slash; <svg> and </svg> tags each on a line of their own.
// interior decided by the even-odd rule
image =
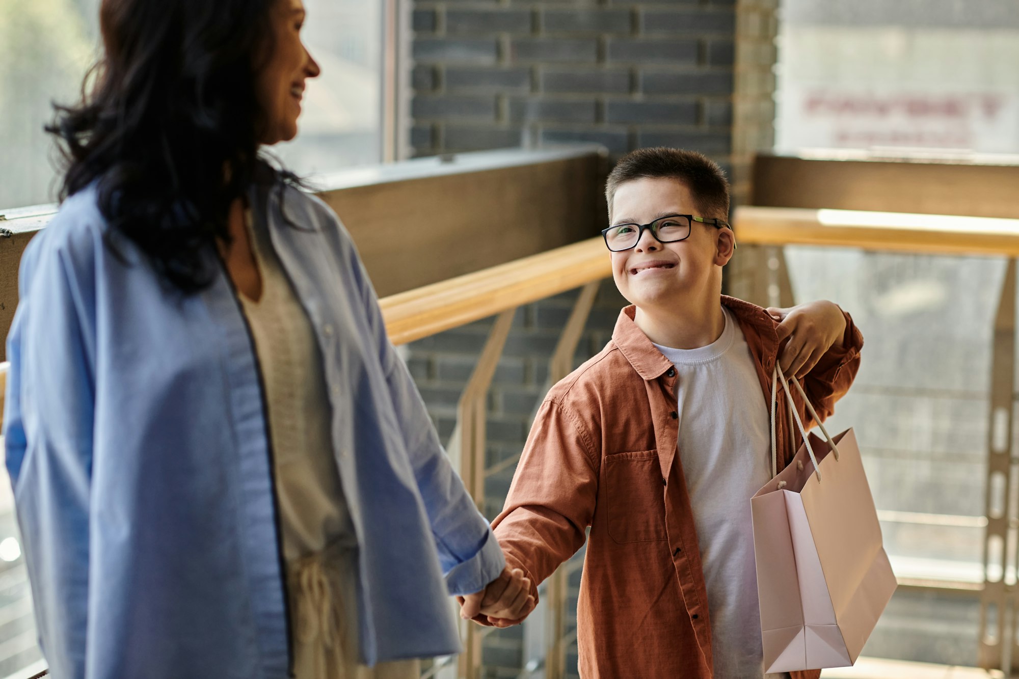
<svg viewBox="0 0 1019 679">
<path fill-rule="evenodd" d="M 417 155 L 597 142 L 733 150 L 734 0 L 417 0 Z"/>
</svg>

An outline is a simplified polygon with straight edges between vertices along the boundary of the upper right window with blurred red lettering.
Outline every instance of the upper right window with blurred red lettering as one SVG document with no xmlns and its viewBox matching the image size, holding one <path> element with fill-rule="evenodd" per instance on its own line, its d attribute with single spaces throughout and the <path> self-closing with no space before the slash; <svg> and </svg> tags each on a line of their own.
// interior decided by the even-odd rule
<svg viewBox="0 0 1019 679">
<path fill-rule="evenodd" d="M 784 0 L 775 147 L 1019 153 L 1012 0 Z"/>
</svg>

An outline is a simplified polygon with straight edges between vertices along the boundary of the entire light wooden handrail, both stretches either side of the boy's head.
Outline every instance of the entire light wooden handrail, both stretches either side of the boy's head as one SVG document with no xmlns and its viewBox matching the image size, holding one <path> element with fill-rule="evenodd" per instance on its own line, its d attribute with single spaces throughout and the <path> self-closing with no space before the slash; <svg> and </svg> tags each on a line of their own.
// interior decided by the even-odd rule
<svg viewBox="0 0 1019 679">
<path fill-rule="evenodd" d="M 1019 219 L 743 206 L 733 223 L 745 245 L 816 245 L 1019 257 Z M 611 275 L 600 238 L 391 295 L 379 301 L 403 345 Z M 0 364 L 0 423 L 6 364 Z"/>
</svg>

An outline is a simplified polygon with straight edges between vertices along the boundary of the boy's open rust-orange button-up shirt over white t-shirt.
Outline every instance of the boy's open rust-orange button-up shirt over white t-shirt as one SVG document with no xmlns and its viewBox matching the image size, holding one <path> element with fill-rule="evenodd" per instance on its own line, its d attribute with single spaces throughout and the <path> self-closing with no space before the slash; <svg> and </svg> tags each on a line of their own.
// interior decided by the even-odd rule
<svg viewBox="0 0 1019 679">
<path fill-rule="evenodd" d="M 743 330 L 770 408 L 777 323 L 752 304 L 721 303 Z M 584 679 L 710 679 L 707 594 L 677 455 L 676 371 L 634 312 L 624 309 L 611 342 L 545 397 L 492 525 L 507 564 L 527 573 L 535 596 L 537 583 L 584 544 L 590 527 L 577 605 Z M 862 346 L 846 314 L 842 344 L 802 381 L 819 417 L 849 388 Z M 799 395 L 794 399 L 810 426 Z M 776 418 L 775 428 L 781 470 L 800 440 L 788 418 Z"/>
</svg>

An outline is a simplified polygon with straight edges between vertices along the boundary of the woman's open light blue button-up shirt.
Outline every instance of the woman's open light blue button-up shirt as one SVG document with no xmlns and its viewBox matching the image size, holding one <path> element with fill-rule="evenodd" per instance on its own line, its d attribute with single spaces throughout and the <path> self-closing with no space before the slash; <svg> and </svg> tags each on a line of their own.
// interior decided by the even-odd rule
<svg viewBox="0 0 1019 679">
<path fill-rule="evenodd" d="M 457 652 L 448 594 L 498 575 L 498 543 L 336 216 L 279 185 L 250 198 L 322 353 L 359 541 L 362 660 Z M 40 643 L 59 679 L 287 674 L 258 364 L 218 271 L 201 294 L 169 289 L 108 227 L 94 189 L 69 198 L 24 253 L 6 462 Z"/>
</svg>

